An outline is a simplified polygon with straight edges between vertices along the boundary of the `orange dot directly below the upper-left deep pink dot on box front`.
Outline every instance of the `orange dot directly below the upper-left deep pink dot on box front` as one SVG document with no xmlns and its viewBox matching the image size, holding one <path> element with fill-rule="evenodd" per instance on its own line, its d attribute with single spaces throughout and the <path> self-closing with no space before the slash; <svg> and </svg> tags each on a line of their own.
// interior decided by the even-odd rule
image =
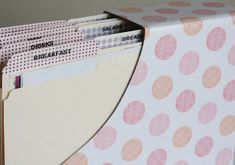
<svg viewBox="0 0 235 165">
<path fill-rule="evenodd" d="M 173 81 L 169 76 L 157 78 L 152 87 L 152 94 L 156 99 L 164 99 L 173 89 Z"/>
</svg>

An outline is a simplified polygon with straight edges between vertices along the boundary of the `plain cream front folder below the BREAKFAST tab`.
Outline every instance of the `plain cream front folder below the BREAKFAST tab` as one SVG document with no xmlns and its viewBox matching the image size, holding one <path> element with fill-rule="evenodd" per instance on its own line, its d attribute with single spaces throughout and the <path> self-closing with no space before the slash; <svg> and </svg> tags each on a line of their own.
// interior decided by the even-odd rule
<svg viewBox="0 0 235 165">
<path fill-rule="evenodd" d="M 5 163 L 61 164 L 84 145 L 113 112 L 139 52 L 116 52 L 87 74 L 12 91 L 4 101 Z"/>
</svg>

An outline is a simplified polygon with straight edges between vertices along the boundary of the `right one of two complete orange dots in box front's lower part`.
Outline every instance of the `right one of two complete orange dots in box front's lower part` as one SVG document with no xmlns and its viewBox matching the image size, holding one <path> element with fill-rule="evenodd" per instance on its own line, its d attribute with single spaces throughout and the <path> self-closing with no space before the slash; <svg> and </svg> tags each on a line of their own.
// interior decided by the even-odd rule
<svg viewBox="0 0 235 165">
<path fill-rule="evenodd" d="M 173 136 L 174 146 L 181 148 L 189 143 L 192 138 L 192 130 L 189 127 L 178 128 Z"/>
</svg>

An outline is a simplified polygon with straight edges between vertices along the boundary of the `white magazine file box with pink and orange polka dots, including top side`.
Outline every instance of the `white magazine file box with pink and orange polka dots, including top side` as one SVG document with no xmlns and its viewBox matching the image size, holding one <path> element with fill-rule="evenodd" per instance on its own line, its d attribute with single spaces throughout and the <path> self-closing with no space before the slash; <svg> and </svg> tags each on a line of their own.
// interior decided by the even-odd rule
<svg viewBox="0 0 235 165">
<path fill-rule="evenodd" d="M 142 54 L 113 115 L 64 164 L 232 165 L 234 11 L 205 1 L 115 11 L 145 27 Z"/>
</svg>

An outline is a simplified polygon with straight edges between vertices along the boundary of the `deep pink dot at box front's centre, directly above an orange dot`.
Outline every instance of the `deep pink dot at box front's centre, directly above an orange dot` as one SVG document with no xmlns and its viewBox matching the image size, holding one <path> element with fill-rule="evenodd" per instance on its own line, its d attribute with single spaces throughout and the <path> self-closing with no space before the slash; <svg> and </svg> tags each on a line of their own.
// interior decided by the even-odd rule
<svg viewBox="0 0 235 165">
<path fill-rule="evenodd" d="M 187 112 L 190 110 L 196 100 L 196 95 L 191 90 L 185 90 L 176 99 L 176 108 L 179 112 Z"/>
</svg>

